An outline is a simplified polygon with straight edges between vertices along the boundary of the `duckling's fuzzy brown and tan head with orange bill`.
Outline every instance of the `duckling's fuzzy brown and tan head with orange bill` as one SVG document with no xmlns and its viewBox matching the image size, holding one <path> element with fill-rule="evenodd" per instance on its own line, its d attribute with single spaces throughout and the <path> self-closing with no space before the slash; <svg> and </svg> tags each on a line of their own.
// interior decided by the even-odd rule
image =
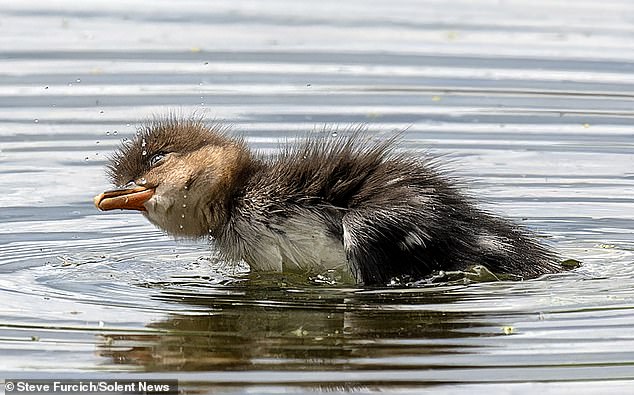
<svg viewBox="0 0 634 395">
<path fill-rule="evenodd" d="M 116 189 L 95 197 L 100 210 L 138 210 L 175 236 L 203 237 L 227 221 L 231 193 L 249 167 L 244 144 L 200 120 L 148 123 L 112 155 Z"/>
</svg>

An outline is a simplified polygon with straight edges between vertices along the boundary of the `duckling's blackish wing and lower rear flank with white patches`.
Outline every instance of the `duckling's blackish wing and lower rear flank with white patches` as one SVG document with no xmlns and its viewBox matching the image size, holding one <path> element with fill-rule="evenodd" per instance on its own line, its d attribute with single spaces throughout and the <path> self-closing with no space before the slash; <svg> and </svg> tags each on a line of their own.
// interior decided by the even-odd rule
<svg viewBox="0 0 634 395">
<path fill-rule="evenodd" d="M 474 264 L 525 278 L 561 270 L 555 255 L 522 228 L 479 211 L 462 214 L 434 217 L 399 204 L 349 210 L 343 246 L 352 273 L 359 283 L 385 285 Z"/>
</svg>

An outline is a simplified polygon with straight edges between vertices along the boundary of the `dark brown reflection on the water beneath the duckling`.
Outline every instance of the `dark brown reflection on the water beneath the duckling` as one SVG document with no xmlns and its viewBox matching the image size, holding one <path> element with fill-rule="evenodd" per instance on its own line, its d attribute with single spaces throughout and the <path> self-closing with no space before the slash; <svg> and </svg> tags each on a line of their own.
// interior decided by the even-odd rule
<svg viewBox="0 0 634 395">
<path fill-rule="evenodd" d="M 215 291 L 225 295 L 161 292 L 200 311 L 149 324 L 160 334 L 104 335 L 100 354 L 150 371 L 357 369 L 396 356 L 465 352 L 449 339 L 486 325 L 465 313 L 426 310 L 455 299 L 442 288 L 368 293 L 244 284 Z M 399 306 L 389 307 L 395 300 Z"/>
</svg>

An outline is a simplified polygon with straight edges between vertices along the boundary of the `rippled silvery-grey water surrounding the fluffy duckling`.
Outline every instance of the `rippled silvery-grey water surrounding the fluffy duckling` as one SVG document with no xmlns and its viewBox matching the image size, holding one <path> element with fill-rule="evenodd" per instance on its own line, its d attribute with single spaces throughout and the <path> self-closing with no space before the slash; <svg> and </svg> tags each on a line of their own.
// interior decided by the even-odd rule
<svg viewBox="0 0 634 395">
<path fill-rule="evenodd" d="M 60 1 L 0 8 L 0 372 L 188 393 L 630 393 L 634 6 Z M 406 129 L 572 272 L 357 288 L 219 266 L 99 213 L 105 158 L 169 111 L 275 150 Z"/>
</svg>

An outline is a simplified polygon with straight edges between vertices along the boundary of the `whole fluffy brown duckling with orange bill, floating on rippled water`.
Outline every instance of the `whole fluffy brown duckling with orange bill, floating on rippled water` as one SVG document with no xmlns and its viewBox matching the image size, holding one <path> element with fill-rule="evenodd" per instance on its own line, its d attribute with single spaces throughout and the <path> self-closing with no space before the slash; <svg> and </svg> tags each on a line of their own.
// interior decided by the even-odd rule
<svg viewBox="0 0 634 395">
<path fill-rule="evenodd" d="M 122 187 L 95 205 L 142 211 L 175 236 L 212 236 L 253 270 L 338 268 L 366 285 L 474 264 L 526 278 L 558 271 L 530 233 L 393 143 L 352 133 L 264 157 L 220 125 L 155 121 L 113 156 L 108 172 Z"/>
</svg>

